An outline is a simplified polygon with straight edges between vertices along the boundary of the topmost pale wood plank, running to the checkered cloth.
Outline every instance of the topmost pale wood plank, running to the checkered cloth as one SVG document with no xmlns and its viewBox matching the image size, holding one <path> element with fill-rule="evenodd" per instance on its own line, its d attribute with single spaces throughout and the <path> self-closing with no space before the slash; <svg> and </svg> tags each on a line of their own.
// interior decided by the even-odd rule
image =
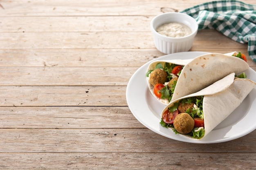
<svg viewBox="0 0 256 170">
<path fill-rule="evenodd" d="M 0 16 L 101 16 L 101 15 L 158 15 L 163 12 L 181 11 L 205 0 L 12 0 L 1 1 Z M 250 0 L 243 0 L 252 3 Z M 146 3 L 146 5 L 145 5 Z"/>
</svg>

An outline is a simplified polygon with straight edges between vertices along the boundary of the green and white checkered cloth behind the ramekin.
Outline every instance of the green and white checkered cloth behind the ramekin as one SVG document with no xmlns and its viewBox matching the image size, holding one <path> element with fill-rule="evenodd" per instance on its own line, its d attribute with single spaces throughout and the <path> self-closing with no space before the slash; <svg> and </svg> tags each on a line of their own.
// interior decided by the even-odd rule
<svg viewBox="0 0 256 170">
<path fill-rule="evenodd" d="M 236 42 L 248 43 L 248 54 L 256 62 L 256 5 L 236 0 L 220 0 L 199 4 L 180 12 L 195 18 L 198 30 L 216 29 Z"/>
</svg>

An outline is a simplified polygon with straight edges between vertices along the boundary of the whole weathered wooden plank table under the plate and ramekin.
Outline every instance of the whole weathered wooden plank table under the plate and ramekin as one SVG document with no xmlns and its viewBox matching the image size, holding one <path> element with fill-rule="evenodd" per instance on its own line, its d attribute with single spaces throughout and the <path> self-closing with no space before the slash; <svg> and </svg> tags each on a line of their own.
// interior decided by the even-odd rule
<svg viewBox="0 0 256 170">
<path fill-rule="evenodd" d="M 254 170 L 256 130 L 219 144 L 175 141 L 126 103 L 133 73 L 164 55 L 152 18 L 207 1 L 0 0 L 0 168 Z M 248 56 L 215 30 L 199 31 L 190 51 Z"/>
</svg>

